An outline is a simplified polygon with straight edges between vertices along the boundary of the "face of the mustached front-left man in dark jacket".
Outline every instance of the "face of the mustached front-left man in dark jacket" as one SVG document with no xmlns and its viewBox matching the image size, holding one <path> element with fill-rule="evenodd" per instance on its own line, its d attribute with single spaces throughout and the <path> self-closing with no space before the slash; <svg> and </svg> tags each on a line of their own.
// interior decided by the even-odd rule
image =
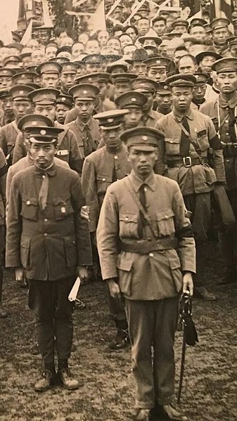
<svg viewBox="0 0 237 421">
<path fill-rule="evenodd" d="M 30 142 L 30 155 L 34 164 L 39 168 L 45 169 L 53 164 L 53 158 L 56 154 L 56 146 L 47 143 L 31 143 Z"/>
</svg>

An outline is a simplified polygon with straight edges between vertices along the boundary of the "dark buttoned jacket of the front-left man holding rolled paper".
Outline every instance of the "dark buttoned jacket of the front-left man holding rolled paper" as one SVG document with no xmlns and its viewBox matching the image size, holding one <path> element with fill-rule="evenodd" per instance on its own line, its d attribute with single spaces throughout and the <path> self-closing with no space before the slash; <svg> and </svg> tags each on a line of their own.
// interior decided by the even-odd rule
<svg viewBox="0 0 237 421">
<path fill-rule="evenodd" d="M 36 280 L 75 276 L 76 267 L 91 264 L 86 205 L 75 171 L 55 164 L 47 169 L 46 209 L 39 209 L 44 173 L 33 166 L 13 177 L 6 234 L 6 266 L 23 266 Z"/>
</svg>

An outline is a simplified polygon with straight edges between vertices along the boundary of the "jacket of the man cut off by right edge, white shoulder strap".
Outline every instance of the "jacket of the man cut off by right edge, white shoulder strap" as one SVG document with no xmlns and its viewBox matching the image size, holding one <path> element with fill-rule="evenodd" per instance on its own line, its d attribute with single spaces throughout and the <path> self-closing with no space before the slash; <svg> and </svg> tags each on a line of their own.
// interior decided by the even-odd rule
<svg viewBox="0 0 237 421">
<path fill-rule="evenodd" d="M 233 98 L 230 101 L 226 102 L 222 99 L 222 96 L 219 95 L 215 101 L 210 101 L 203 104 L 200 107 L 200 111 L 205 115 L 210 115 L 214 121 L 216 121 L 216 127 L 219 131 L 219 137 L 223 144 L 225 143 L 236 143 L 236 139 L 231 139 L 229 134 L 229 108 L 232 108 L 235 115 L 237 115 L 237 93 L 234 93 Z M 234 124 L 236 127 L 236 123 Z M 237 146 L 237 144 L 236 144 Z M 226 170 L 226 184 L 229 190 L 237 188 L 237 148 L 236 153 L 231 156 L 231 153 L 226 154 L 226 148 L 224 146 L 224 166 Z M 229 150 L 231 152 L 231 150 Z"/>
</svg>

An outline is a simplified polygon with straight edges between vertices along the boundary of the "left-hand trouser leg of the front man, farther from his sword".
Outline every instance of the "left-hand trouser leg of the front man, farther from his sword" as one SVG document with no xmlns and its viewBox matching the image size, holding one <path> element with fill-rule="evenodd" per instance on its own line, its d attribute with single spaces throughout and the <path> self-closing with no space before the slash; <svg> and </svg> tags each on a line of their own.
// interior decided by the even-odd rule
<svg viewBox="0 0 237 421">
<path fill-rule="evenodd" d="M 150 409 L 155 406 L 151 355 L 155 326 L 154 303 L 125 299 L 125 309 L 132 345 L 132 370 L 136 382 L 136 407 Z"/>
</svg>

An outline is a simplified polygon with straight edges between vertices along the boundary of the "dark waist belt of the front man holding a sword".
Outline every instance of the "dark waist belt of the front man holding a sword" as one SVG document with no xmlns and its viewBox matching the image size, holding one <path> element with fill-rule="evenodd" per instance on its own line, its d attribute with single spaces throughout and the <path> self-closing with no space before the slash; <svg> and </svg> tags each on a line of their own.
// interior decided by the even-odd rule
<svg viewBox="0 0 237 421">
<path fill-rule="evenodd" d="M 161 252 L 178 248 L 177 238 L 160 238 L 156 241 L 139 240 L 131 243 L 120 242 L 122 252 L 148 254 L 150 252 Z"/>
</svg>

